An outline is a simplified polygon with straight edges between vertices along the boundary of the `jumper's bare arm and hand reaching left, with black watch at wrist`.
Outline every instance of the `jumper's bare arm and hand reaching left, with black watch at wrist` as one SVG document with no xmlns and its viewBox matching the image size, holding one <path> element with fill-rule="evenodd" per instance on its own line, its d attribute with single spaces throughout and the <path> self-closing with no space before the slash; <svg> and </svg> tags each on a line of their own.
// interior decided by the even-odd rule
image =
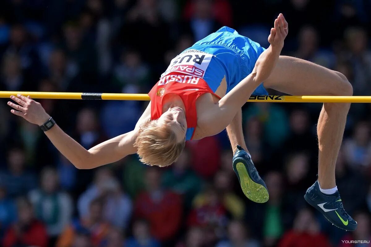
<svg viewBox="0 0 371 247">
<path fill-rule="evenodd" d="M 30 123 L 41 126 L 50 116 L 45 112 L 40 103 L 32 100 L 29 96 L 24 97 L 20 94 L 11 96 L 17 104 L 8 102 L 13 107 L 12 113 L 21 116 Z M 147 107 L 148 109 L 148 107 Z M 148 111 L 148 110 L 146 110 Z M 146 112 L 145 111 L 145 112 Z M 142 117 L 144 114 L 142 115 Z M 142 118 L 141 117 L 141 118 Z M 138 129 L 114 137 L 95 147 L 86 150 L 79 143 L 66 134 L 58 125 L 45 131 L 46 136 L 54 146 L 62 153 L 76 168 L 91 169 L 105 164 L 113 163 L 124 158 L 129 154 L 136 153 L 133 146 L 137 138 Z"/>
</svg>

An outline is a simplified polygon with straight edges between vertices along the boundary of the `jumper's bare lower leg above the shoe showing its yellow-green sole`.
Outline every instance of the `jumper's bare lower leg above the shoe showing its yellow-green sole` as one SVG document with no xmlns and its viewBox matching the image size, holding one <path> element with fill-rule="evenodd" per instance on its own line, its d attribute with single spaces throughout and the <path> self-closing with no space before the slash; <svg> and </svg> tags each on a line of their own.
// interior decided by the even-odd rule
<svg viewBox="0 0 371 247">
<path fill-rule="evenodd" d="M 237 150 L 237 145 L 240 145 L 246 152 L 249 153 L 246 147 L 245 139 L 243 138 L 242 130 L 242 110 L 239 110 L 234 116 L 232 122 L 227 126 L 228 138 L 232 146 L 233 154 Z"/>
</svg>

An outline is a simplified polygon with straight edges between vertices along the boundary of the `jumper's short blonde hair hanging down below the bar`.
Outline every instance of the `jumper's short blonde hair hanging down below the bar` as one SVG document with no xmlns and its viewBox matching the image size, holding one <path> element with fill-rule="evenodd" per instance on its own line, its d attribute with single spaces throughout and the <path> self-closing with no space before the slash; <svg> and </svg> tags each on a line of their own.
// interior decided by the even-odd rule
<svg viewBox="0 0 371 247">
<path fill-rule="evenodd" d="M 134 146 L 138 148 L 140 161 L 151 166 L 165 167 L 174 163 L 185 146 L 185 137 L 177 141 L 177 136 L 170 126 L 174 124 L 165 121 L 158 124 L 157 120 L 150 120 L 139 128 L 138 137 Z"/>
</svg>

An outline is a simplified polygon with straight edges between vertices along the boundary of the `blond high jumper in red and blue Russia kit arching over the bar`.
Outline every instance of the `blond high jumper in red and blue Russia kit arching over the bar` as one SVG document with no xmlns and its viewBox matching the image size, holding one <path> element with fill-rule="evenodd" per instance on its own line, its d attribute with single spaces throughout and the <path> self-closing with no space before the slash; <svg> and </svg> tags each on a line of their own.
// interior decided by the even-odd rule
<svg viewBox="0 0 371 247">
<path fill-rule="evenodd" d="M 280 56 L 288 23 L 282 14 L 270 30 L 268 49 L 222 27 L 176 56 L 149 93 L 151 101 L 134 130 L 86 150 L 64 133 L 31 97 L 11 96 L 12 113 L 38 124 L 46 136 L 79 169 L 91 169 L 138 153 L 145 164 L 168 166 L 185 141 L 227 128 L 233 169 L 243 193 L 264 203 L 269 194 L 248 153 L 241 107 L 249 97 L 275 89 L 291 95 L 351 96 L 347 78 L 334 70 L 295 57 Z M 324 103 L 318 119 L 318 180 L 305 200 L 335 226 L 355 230 L 335 184 L 335 162 L 344 134 L 349 103 Z M 207 161 L 206 161 L 207 162 Z"/>
</svg>

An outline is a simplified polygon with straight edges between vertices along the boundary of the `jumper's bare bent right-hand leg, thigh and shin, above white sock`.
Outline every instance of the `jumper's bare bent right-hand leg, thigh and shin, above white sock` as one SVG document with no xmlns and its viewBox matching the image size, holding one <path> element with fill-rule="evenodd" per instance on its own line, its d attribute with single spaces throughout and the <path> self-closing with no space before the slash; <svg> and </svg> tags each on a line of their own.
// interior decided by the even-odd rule
<svg viewBox="0 0 371 247">
<path fill-rule="evenodd" d="M 292 95 L 351 96 L 347 78 L 334 70 L 294 57 L 280 56 L 266 88 Z M 324 103 L 318 119 L 318 181 L 321 188 L 335 187 L 335 162 L 338 157 L 348 103 Z"/>
</svg>

